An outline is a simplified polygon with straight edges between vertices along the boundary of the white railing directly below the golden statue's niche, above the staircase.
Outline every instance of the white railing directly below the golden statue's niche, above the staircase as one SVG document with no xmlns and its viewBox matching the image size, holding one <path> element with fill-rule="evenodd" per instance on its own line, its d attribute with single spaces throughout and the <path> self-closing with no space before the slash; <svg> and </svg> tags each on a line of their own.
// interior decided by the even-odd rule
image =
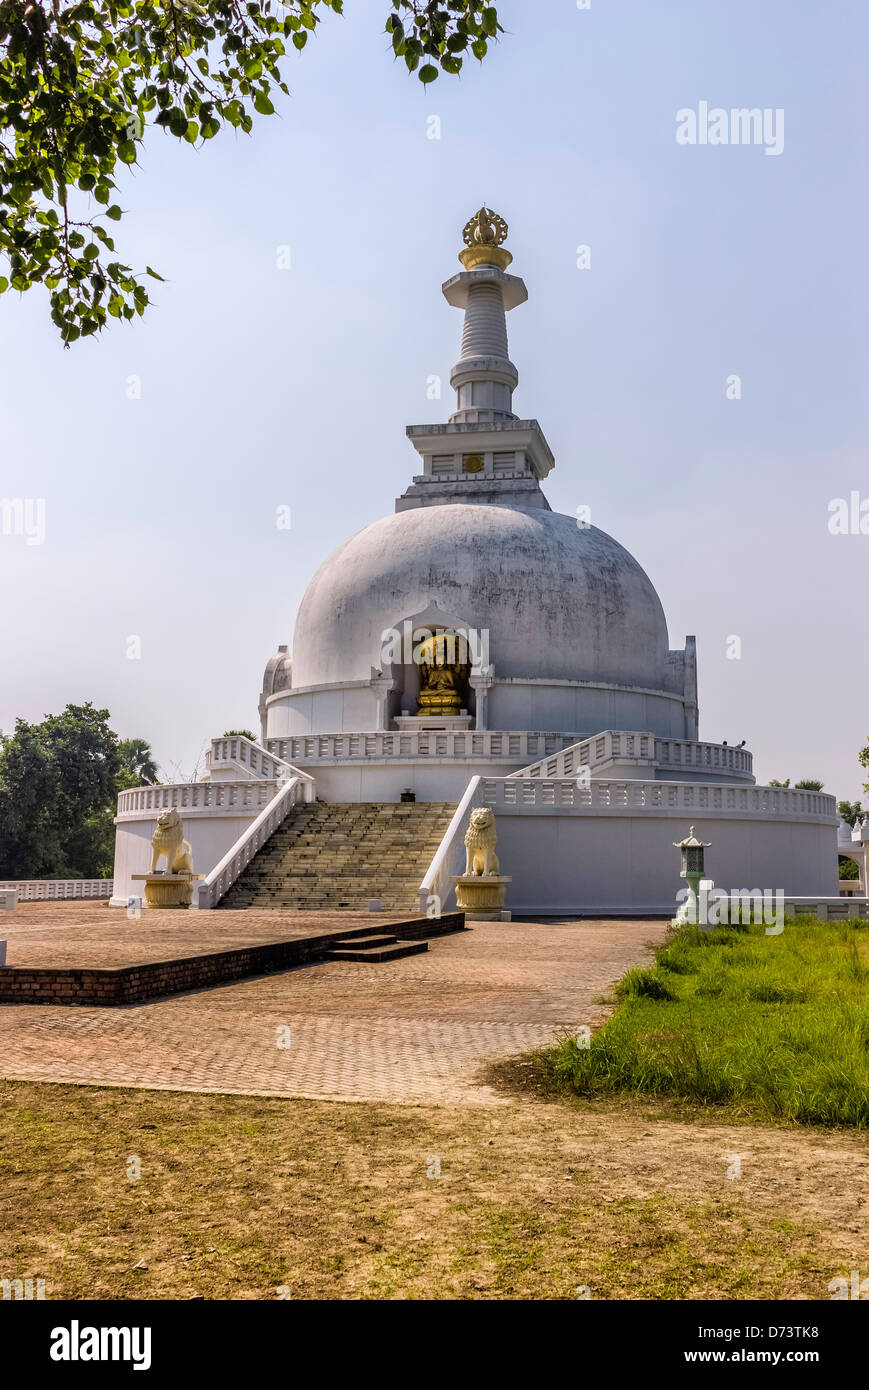
<svg viewBox="0 0 869 1390">
<path fill-rule="evenodd" d="M 576 742 L 576 734 L 545 730 L 388 730 L 366 734 L 299 734 L 270 738 L 268 752 L 296 766 L 317 762 L 396 762 L 407 758 L 476 758 L 516 763 L 545 758 Z"/>
</svg>

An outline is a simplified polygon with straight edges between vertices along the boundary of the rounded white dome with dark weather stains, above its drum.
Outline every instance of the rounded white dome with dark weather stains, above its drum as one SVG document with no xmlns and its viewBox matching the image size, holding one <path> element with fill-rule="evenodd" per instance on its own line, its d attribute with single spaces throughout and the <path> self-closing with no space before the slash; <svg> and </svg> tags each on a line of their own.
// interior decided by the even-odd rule
<svg viewBox="0 0 869 1390">
<path fill-rule="evenodd" d="M 317 570 L 293 687 L 368 680 L 382 632 L 432 603 L 488 630 L 499 678 L 667 684 L 660 600 L 617 541 L 542 507 L 448 503 L 375 521 Z"/>
</svg>

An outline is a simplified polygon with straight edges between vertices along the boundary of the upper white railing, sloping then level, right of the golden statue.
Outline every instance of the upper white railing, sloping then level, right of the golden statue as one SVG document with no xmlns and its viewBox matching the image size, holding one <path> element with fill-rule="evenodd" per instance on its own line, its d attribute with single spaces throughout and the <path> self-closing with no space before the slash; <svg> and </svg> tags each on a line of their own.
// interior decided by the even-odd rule
<svg viewBox="0 0 869 1390">
<path fill-rule="evenodd" d="M 523 767 L 512 777 L 578 777 L 584 767 L 590 774 L 612 763 L 634 763 L 638 767 L 662 767 L 667 771 L 688 770 L 716 773 L 748 780 L 752 776 L 752 756 L 744 748 L 726 744 L 701 744 L 687 738 L 656 738 L 634 730 L 606 728 L 584 738 L 570 748 Z"/>
</svg>

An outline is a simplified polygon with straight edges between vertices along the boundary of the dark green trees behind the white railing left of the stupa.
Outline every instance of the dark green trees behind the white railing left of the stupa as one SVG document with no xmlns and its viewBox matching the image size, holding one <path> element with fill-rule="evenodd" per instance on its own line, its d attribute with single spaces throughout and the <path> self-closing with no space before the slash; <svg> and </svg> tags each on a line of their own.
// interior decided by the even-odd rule
<svg viewBox="0 0 869 1390">
<path fill-rule="evenodd" d="M 15 720 L 0 735 L 0 877 L 110 876 L 117 795 L 156 771 L 147 742 L 120 741 L 90 702 Z"/>
</svg>

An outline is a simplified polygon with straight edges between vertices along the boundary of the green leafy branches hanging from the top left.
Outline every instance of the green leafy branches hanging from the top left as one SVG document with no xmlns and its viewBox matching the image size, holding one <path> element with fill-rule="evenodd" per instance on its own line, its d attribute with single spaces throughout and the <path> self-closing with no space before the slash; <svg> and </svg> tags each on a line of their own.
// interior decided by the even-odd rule
<svg viewBox="0 0 869 1390">
<path fill-rule="evenodd" d="M 118 175 L 147 126 L 200 146 L 288 93 L 281 60 L 343 0 L 0 0 L 0 293 L 44 285 L 64 343 L 143 314 L 146 267 L 115 249 Z M 392 50 L 423 83 L 480 61 L 480 0 L 393 0 Z"/>
</svg>

